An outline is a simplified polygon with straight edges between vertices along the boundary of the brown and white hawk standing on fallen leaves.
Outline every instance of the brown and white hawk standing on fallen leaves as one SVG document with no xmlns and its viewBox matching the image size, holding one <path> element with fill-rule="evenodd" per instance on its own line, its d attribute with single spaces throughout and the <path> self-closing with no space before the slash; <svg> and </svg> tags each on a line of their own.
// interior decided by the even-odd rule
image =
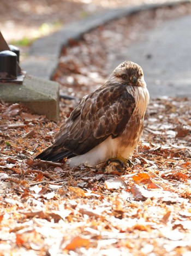
<svg viewBox="0 0 191 256">
<path fill-rule="evenodd" d="M 37 157 L 71 167 L 95 167 L 111 158 L 128 159 L 138 145 L 149 101 L 141 67 L 124 61 L 108 81 L 84 96 L 55 135 L 54 143 Z"/>
</svg>

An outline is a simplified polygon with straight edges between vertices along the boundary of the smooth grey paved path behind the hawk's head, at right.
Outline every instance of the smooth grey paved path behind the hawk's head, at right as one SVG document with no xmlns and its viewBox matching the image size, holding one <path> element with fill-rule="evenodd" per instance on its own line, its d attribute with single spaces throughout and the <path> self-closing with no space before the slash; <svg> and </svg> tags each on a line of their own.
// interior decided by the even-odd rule
<svg viewBox="0 0 191 256">
<path fill-rule="evenodd" d="M 151 97 L 191 98 L 191 15 L 148 30 L 138 43 L 118 56 L 111 71 L 124 58 L 142 67 Z"/>
</svg>

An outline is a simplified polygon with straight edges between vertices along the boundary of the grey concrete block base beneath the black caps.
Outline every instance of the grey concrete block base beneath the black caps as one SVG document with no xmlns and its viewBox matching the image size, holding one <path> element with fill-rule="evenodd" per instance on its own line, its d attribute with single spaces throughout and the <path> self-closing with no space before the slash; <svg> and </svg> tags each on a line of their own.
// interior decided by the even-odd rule
<svg viewBox="0 0 191 256">
<path fill-rule="evenodd" d="M 26 75 L 22 84 L 0 81 L 0 99 L 22 103 L 38 115 L 59 119 L 59 84 L 43 78 Z"/>
</svg>

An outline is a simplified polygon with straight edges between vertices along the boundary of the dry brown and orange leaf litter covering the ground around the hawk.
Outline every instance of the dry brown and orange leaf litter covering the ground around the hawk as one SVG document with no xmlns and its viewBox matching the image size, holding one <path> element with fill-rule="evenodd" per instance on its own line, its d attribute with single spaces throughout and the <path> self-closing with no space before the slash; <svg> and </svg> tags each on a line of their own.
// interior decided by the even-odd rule
<svg viewBox="0 0 191 256">
<path fill-rule="evenodd" d="M 61 84 L 62 92 L 77 99 L 103 83 L 106 75 L 98 64 L 102 60 L 104 66 L 114 53 L 108 50 L 104 59 L 93 55 L 91 43 L 71 43 L 55 79 L 68 81 Z M 71 62 L 75 51 L 83 57 L 77 61 L 96 59 Z M 86 79 L 96 82 L 87 87 Z M 76 103 L 61 99 L 62 122 Z M 0 255 L 188 255 L 190 103 L 186 98 L 151 100 L 142 142 L 128 168 L 118 162 L 69 168 L 65 162 L 33 161 L 62 122 L 33 115 L 20 104 L 1 103 Z"/>
</svg>

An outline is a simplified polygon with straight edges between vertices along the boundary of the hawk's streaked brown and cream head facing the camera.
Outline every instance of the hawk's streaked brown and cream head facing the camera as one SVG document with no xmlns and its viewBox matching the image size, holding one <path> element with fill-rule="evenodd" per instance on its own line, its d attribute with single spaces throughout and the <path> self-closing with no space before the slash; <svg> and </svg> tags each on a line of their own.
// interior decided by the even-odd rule
<svg viewBox="0 0 191 256">
<path fill-rule="evenodd" d="M 116 67 L 109 81 L 128 84 L 128 86 L 146 87 L 142 68 L 138 64 L 127 60 Z"/>
</svg>

